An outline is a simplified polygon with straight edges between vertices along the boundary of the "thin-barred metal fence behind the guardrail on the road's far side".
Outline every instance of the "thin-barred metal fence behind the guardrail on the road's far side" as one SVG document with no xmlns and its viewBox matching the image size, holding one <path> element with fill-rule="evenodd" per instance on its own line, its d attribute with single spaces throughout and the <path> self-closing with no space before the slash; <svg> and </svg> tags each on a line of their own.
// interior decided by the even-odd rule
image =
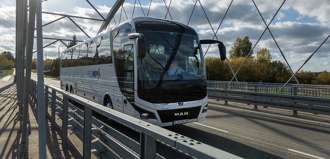
<svg viewBox="0 0 330 159">
<path fill-rule="evenodd" d="M 329 85 L 207 81 L 208 88 L 330 98 Z M 294 90 L 297 90 L 295 92 Z"/>
</svg>

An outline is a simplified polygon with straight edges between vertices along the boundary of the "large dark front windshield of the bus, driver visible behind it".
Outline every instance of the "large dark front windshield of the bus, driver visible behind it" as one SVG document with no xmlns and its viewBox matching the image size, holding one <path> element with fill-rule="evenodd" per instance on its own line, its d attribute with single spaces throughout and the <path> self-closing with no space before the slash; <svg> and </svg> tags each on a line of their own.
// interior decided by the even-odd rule
<svg viewBox="0 0 330 159">
<path fill-rule="evenodd" d="M 144 92 L 150 95 L 146 99 L 157 99 L 158 93 L 167 95 L 167 99 L 185 96 L 187 101 L 206 96 L 204 56 L 197 34 L 149 30 L 139 33 L 146 39 L 146 57 L 138 58 L 138 91 L 148 91 Z M 187 97 L 189 92 L 196 96 Z"/>
</svg>

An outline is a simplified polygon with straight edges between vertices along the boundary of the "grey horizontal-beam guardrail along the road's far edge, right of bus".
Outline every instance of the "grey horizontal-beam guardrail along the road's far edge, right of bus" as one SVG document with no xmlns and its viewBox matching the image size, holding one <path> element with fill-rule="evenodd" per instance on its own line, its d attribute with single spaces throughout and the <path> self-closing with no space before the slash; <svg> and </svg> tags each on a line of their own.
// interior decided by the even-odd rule
<svg viewBox="0 0 330 159">
<path fill-rule="evenodd" d="M 296 92 L 296 89 L 295 87 L 294 92 Z M 297 111 L 330 115 L 330 98 L 214 88 L 208 88 L 207 92 L 209 99 L 225 101 L 225 104 L 228 104 L 228 101 L 230 101 L 254 105 L 254 109 L 258 109 L 258 106 L 264 106 L 293 110 L 294 115 L 297 114 Z"/>
</svg>

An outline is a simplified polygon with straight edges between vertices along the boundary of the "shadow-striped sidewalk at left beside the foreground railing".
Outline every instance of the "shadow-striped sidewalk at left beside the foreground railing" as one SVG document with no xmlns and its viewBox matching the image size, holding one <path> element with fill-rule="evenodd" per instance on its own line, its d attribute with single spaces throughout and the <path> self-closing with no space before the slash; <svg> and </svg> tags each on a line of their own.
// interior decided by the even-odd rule
<svg viewBox="0 0 330 159">
<path fill-rule="evenodd" d="M 16 82 L 0 81 L 0 159 L 16 159 L 17 149 L 21 141 L 19 108 L 17 106 Z M 38 136 L 38 109 L 33 101 L 29 103 L 29 118 L 31 135 L 29 136 L 29 159 L 39 158 Z M 46 144 L 48 159 L 81 158 L 81 154 L 73 146 L 62 148 L 61 130 L 51 130 L 50 123 L 46 122 Z M 58 126 L 59 127 L 59 126 Z M 69 141 L 69 143 L 71 143 Z M 72 143 L 71 143 L 72 144 Z"/>
</svg>

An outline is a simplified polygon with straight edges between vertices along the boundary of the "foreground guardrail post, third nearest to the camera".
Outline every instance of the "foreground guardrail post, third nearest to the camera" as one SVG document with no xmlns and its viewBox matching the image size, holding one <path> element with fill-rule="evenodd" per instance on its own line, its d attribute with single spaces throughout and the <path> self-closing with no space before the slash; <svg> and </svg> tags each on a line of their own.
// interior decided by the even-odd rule
<svg viewBox="0 0 330 159">
<path fill-rule="evenodd" d="M 69 98 L 63 95 L 63 113 L 62 113 L 62 147 L 70 147 L 68 143 L 68 106 Z"/>
</svg>

